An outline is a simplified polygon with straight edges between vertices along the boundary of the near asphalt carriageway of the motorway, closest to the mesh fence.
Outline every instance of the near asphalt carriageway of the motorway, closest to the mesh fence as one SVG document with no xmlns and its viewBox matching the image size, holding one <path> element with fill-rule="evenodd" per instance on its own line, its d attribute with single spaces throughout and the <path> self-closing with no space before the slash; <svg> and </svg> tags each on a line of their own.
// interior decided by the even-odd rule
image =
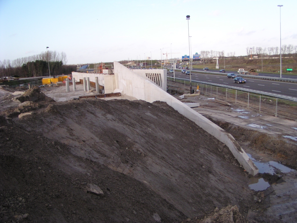
<svg viewBox="0 0 297 223">
<path fill-rule="evenodd" d="M 171 77 L 173 73 L 168 73 L 167 75 Z M 224 84 L 232 87 L 242 87 L 251 90 L 265 91 L 295 98 L 297 97 L 297 84 L 279 81 L 258 80 L 245 78 L 243 75 L 241 76 L 247 80 L 247 83 L 237 84 L 233 83 L 233 79 L 227 78 L 227 76 L 200 73 L 192 73 L 192 81 L 205 81 L 209 82 L 210 84 Z M 175 72 L 175 77 L 190 79 L 189 75 L 182 74 L 179 71 Z"/>
</svg>

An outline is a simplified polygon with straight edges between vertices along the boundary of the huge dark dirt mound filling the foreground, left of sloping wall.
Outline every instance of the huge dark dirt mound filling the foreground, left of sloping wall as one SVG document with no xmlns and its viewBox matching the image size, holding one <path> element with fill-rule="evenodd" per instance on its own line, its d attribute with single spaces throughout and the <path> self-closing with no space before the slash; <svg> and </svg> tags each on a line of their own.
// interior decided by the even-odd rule
<svg viewBox="0 0 297 223">
<path fill-rule="evenodd" d="M 0 131 L 0 222 L 178 222 L 254 205 L 228 147 L 166 103 L 52 103 Z"/>
</svg>

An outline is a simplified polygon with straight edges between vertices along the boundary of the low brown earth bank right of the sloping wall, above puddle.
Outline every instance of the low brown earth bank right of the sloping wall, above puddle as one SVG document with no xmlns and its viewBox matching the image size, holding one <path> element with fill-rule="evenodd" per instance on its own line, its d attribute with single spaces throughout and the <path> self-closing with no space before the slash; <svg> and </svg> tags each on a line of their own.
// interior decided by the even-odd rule
<svg viewBox="0 0 297 223">
<path fill-rule="evenodd" d="M 295 142 L 281 139 L 281 136 L 270 136 L 255 130 L 242 128 L 220 120 L 210 120 L 230 133 L 238 142 L 249 142 L 249 147 L 258 151 L 267 151 L 283 164 L 297 168 L 297 147 Z"/>
</svg>

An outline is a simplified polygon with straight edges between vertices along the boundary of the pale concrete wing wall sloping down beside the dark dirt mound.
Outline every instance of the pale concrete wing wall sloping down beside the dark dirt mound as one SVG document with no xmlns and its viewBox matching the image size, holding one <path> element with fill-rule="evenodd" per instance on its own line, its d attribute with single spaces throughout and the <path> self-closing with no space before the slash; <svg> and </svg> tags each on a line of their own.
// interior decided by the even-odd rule
<svg viewBox="0 0 297 223">
<path fill-rule="evenodd" d="M 143 77 L 143 75 L 136 75 L 135 71 L 133 72 L 116 61 L 114 62 L 114 73 L 116 88 L 120 89 L 123 94 L 133 96 L 138 100 L 145 100 L 150 103 L 157 100 L 166 102 L 180 114 L 183 114 L 209 134 L 226 144 L 233 156 L 241 165 L 243 165 L 247 172 L 252 175 L 256 175 L 259 172 L 258 168 L 247 156 L 244 150 L 242 150 L 231 134 L 227 133 L 225 130 L 203 117 L 198 112 L 195 112 L 178 99 L 169 95 L 156 84 L 152 84 L 151 81 Z"/>
</svg>

